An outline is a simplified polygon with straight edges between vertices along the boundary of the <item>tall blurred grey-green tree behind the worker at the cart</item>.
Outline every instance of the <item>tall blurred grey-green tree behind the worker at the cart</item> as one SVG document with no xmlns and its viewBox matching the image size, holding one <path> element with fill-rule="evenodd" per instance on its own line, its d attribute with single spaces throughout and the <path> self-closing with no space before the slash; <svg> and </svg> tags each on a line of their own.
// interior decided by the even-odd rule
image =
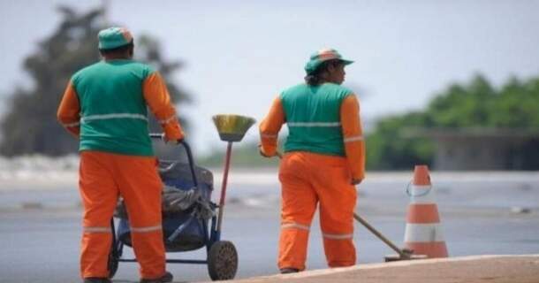
<svg viewBox="0 0 539 283">
<path fill-rule="evenodd" d="M 29 88 L 17 88 L 8 101 L 7 114 L 0 125 L 3 133 L 0 153 L 6 156 L 42 153 L 52 156 L 76 152 L 78 143 L 57 123 L 58 103 L 72 74 L 100 60 L 97 33 L 103 28 L 103 10 L 77 13 L 58 8 L 62 22 L 57 30 L 40 42 L 34 54 L 24 61 L 32 78 Z M 136 35 L 136 34 L 135 34 Z M 135 36 L 135 57 L 158 70 L 168 82 L 171 99 L 189 102 L 189 96 L 171 83 L 171 74 L 181 64 L 166 61 L 159 43 L 149 35 Z M 183 126 L 186 121 L 182 117 Z M 150 127 L 159 130 L 156 121 Z"/>
</svg>

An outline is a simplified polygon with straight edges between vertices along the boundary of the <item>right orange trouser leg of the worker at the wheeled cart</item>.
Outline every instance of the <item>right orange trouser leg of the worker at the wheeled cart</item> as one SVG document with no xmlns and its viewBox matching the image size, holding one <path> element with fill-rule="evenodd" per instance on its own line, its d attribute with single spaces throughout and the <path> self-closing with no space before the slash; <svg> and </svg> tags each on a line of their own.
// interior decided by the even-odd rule
<svg viewBox="0 0 539 283">
<path fill-rule="evenodd" d="M 118 184 L 131 225 L 131 239 L 140 277 L 155 279 L 165 272 L 161 191 L 154 157 L 118 157 Z"/>
</svg>

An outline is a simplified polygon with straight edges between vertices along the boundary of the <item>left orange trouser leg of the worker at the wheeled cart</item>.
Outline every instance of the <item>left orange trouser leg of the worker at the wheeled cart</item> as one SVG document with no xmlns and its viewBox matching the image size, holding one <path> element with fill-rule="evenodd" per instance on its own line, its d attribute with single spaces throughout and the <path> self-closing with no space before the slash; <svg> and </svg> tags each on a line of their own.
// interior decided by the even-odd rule
<svg viewBox="0 0 539 283">
<path fill-rule="evenodd" d="M 80 276 L 107 277 L 112 233 L 110 218 L 118 188 L 110 171 L 110 155 L 96 151 L 80 154 L 80 197 L 84 206 L 80 246 Z"/>
</svg>

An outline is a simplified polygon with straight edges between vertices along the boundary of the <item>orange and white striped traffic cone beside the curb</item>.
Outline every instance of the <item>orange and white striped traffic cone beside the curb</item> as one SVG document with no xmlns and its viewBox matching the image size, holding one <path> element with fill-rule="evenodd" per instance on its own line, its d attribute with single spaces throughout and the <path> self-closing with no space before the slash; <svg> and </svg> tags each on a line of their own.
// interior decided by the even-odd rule
<svg viewBox="0 0 539 283">
<path fill-rule="evenodd" d="M 406 192 L 410 195 L 406 216 L 406 248 L 413 249 L 415 255 L 447 257 L 444 234 L 427 165 L 415 166 L 414 180 Z"/>
</svg>

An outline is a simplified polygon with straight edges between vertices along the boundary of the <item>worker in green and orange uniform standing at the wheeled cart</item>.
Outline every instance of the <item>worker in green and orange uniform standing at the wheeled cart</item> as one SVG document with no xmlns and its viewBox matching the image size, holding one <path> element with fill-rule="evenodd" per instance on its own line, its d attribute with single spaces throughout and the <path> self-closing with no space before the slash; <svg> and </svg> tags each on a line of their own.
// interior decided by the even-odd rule
<svg viewBox="0 0 539 283">
<path fill-rule="evenodd" d="M 132 34 L 110 27 L 98 39 L 103 60 L 72 76 L 57 111 L 60 123 L 80 140 L 81 277 L 85 283 L 111 282 L 110 219 L 121 195 L 140 282 L 170 282 L 161 226 L 163 185 L 148 136 L 147 105 L 166 141 L 181 141 L 184 134 L 163 78 L 132 60 Z"/>
</svg>

